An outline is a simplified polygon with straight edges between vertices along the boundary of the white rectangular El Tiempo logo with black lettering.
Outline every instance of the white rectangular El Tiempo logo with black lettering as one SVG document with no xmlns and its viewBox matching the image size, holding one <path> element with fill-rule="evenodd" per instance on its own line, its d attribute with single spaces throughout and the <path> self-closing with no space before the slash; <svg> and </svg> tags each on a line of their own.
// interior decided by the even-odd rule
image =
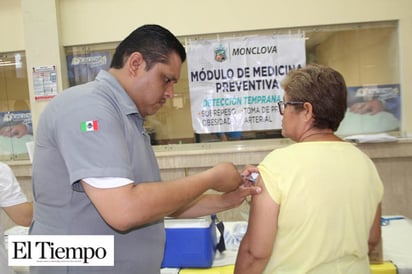
<svg viewBox="0 0 412 274">
<path fill-rule="evenodd" d="M 9 235 L 10 266 L 113 266 L 113 235 Z"/>
</svg>

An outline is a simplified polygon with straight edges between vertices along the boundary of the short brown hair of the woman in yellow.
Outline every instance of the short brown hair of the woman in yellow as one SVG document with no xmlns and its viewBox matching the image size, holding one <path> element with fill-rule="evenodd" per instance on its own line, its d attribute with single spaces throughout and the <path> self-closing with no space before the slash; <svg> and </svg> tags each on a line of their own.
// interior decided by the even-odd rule
<svg viewBox="0 0 412 274">
<path fill-rule="evenodd" d="M 314 127 L 338 129 L 347 108 L 346 83 L 339 72 L 311 64 L 290 71 L 281 85 L 288 100 L 312 104 Z"/>
</svg>

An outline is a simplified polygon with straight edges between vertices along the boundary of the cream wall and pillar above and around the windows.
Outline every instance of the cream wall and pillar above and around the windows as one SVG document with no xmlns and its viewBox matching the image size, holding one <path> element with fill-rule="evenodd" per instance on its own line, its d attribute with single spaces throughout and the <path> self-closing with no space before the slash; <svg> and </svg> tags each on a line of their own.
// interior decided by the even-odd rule
<svg viewBox="0 0 412 274">
<path fill-rule="evenodd" d="M 395 20 L 399 22 L 402 131 L 412 136 L 412 1 L 410 0 L 0 0 L 0 52 L 25 49 L 28 68 L 56 64 L 65 81 L 62 46 L 119 41 L 157 23 L 178 36 Z M 13 26 L 13 28 L 11 27 Z M 32 82 L 29 75 L 29 83 Z M 30 85 L 32 92 L 32 85 Z M 33 122 L 46 102 L 32 103 Z"/>
</svg>

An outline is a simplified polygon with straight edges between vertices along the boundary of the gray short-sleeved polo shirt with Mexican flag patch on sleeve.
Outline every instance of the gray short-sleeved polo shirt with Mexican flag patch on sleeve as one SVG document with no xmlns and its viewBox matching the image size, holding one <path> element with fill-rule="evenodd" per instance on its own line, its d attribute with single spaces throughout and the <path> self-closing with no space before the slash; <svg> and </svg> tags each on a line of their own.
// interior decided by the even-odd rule
<svg viewBox="0 0 412 274">
<path fill-rule="evenodd" d="M 82 131 L 86 121 L 97 121 L 97 128 Z M 160 181 L 143 123 L 136 105 L 106 71 L 48 104 L 36 132 L 30 234 L 114 235 L 115 266 L 32 267 L 32 274 L 160 272 L 163 221 L 118 233 L 104 222 L 79 183 L 87 177 Z"/>
</svg>

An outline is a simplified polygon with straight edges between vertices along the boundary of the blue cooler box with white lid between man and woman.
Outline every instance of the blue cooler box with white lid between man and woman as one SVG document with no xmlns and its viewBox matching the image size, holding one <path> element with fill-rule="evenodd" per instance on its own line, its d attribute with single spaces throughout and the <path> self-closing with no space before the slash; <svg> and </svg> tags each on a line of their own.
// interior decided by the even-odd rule
<svg viewBox="0 0 412 274">
<path fill-rule="evenodd" d="M 216 225 L 210 217 L 165 219 L 162 267 L 211 267 L 216 252 Z"/>
</svg>

